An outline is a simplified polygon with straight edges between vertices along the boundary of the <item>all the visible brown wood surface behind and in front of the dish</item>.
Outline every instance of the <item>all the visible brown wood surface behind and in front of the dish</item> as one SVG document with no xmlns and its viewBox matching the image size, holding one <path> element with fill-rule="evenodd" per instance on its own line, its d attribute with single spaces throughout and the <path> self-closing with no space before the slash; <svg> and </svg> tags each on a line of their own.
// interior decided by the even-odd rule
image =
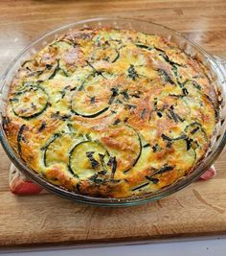
<svg viewBox="0 0 226 256">
<path fill-rule="evenodd" d="M 0 72 L 34 38 L 95 16 L 134 17 L 163 24 L 226 58 L 225 0 L 0 1 Z M 0 74 L 0 75 L 1 75 Z M 154 240 L 226 233 L 226 152 L 217 175 L 169 198 L 132 208 L 81 205 L 54 195 L 16 197 L 10 161 L 0 149 L 0 246 Z"/>
</svg>

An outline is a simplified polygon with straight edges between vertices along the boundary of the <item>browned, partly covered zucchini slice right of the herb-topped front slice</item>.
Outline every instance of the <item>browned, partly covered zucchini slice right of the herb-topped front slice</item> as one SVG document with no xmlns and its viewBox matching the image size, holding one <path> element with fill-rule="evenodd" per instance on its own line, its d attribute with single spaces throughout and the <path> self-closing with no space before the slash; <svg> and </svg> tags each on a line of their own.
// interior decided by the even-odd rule
<svg viewBox="0 0 226 256">
<path fill-rule="evenodd" d="M 101 142 L 110 155 L 116 157 L 118 172 L 129 171 L 141 156 L 141 138 L 134 128 L 113 126 L 102 135 Z"/>
</svg>

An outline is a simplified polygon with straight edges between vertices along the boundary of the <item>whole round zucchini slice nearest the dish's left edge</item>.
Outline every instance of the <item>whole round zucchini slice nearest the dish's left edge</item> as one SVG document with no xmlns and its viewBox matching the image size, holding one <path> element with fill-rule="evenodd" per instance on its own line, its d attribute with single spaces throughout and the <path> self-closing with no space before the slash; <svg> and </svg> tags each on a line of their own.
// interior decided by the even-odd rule
<svg viewBox="0 0 226 256">
<path fill-rule="evenodd" d="M 15 115 L 30 119 L 41 114 L 48 106 L 49 97 L 39 85 L 25 87 L 10 99 Z"/>
</svg>

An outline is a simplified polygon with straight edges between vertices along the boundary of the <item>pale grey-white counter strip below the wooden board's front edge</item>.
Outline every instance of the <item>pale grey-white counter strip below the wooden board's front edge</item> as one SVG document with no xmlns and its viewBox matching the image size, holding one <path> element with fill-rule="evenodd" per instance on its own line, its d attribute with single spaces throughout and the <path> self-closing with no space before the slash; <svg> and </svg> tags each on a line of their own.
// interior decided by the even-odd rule
<svg viewBox="0 0 226 256">
<path fill-rule="evenodd" d="M 162 256 L 166 252 L 168 256 L 225 256 L 226 238 L 220 239 L 205 239 L 187 242 L 168 242 L 161 244 L 136 244 L 136 245 L 117 245 L 117 246 L 104 246 L 104 247 L 88 247 L 88 248 L 73 248 L 64 247 L 60 249 L 45 248 L 45 249 L 31 249 L 18 250 L 14 252 L 5 252 L 2 256 L 138 256 L 138 255 L 151 255 Z M 1 254 L 1 252 L 0 252 Z"/>
</svg>

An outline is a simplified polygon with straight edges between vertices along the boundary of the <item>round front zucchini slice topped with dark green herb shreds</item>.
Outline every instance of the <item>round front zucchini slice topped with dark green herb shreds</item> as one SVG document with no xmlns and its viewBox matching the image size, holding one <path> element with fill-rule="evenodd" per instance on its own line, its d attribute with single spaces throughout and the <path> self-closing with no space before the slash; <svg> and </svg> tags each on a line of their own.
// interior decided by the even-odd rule
<svg viewBox="0 0 226 256">
<path fill-rule="evenodd" d="M 109 154 L 98 142 L 83 141 L 77 144 L 69 156 L 69 168 L 81 179 L 91 178 L 107 171 Z"/>
</svg>

